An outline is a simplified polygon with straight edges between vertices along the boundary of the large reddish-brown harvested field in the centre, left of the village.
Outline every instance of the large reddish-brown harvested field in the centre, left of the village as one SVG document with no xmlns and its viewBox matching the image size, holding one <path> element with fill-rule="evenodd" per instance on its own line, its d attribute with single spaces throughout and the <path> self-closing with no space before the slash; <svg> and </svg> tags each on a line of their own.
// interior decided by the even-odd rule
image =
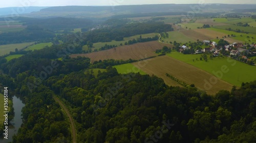
<svg viewBox="0 0 256 143">
<path fill-rule="evenodd" d="M 92 63 L 99 60 L 140 60 L 148 58 L 150 56 L 156 56 L 154 52 L 157 49 L 162 49 L 163 46 L 170 47 L 169 44 L 160 43 L 158 41 L 151 41 L 145 43 L 137 43 L 133 45 L 121 46 L 109 50 L 103 50 L 92 53 L 85 54 L 71 54 L 71 58 L 76 58 L 77 56 L 86 56 L 92 60 Z"/>
</svg>

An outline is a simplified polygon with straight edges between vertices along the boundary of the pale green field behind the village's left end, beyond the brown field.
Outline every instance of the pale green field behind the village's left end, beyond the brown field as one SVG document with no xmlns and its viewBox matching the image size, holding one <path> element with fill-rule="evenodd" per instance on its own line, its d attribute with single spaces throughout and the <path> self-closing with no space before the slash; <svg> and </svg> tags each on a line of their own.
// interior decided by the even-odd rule
<svg viewBox="0 0 256 143">
<path fill-rule="evenodd" d="M 190 42 L 196 42 L 195 40 L 187 37 L 186 35 L 184 35 L 183 33 L 179 32 L 179 31 L 174 31 L 174 32 L 167 32 L 169 34 L 169 38 L 162 38 L 162 40 L 164 42 L 178 42 L 178 43 L 186 43 L 188 41 Z"/>
</svg>

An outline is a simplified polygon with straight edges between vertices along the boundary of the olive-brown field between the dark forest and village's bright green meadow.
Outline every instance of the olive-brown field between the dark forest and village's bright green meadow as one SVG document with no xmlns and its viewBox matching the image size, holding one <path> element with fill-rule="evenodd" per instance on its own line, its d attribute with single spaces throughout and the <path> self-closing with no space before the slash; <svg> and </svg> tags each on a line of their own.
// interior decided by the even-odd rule
<svg viewBox="0 0 256 143">
<path fill-rule="evenodd" d="M 158 56 L 146 61 L 145 66 L 139 68 L 149 75 L 154 74 L 162 78 L 168 85 L 177 86 L 179 84 L 167 77 L 166 73 L 178 78 L 181 81 L 184 81 L 187 84 L 195 84 L 198 89 L 206 91 L 208 94 L 216 94 L 219 90 L 230 91 L 232 89 L 231 84 L 215 78 L 208 72 L 166 55 Z M 136 65 L 138 63 L 133 64 Z M 209 83 L 208 85 L 210 79 L 216 79 L 216 83 L 212 85 Z"/>
</svg>

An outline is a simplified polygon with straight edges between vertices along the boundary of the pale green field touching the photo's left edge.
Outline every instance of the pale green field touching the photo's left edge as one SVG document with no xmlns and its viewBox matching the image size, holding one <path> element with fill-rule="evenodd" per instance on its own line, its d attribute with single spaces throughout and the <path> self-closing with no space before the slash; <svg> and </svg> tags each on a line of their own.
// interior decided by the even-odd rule
<svg viewBox="0 0 256 143">
<path fill-rule="evenodd" d="M 27 42 L 27 43 L 19 43 L 19 44 L 8 44 L 8 45 L 0 45 L 0 56 L 9 54 L 10 51 L 15 51 L 15 48 L 22 49 L 28 45 L 32 45 L 35 42 Z"/>
</svg>

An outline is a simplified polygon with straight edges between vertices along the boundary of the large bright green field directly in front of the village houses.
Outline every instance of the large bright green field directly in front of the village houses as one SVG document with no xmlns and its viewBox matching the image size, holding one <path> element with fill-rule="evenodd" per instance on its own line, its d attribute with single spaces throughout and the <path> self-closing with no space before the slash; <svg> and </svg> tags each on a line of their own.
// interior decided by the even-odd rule
<svg viewBox="0 0 256 143">
<path fill-rule="evenodd" d="M 250 66 L 248 64 L 232 60 L 230 58 L 218 57 L 214 58 L 213 60 L 208 60 L 208 62 L 205 62 L 200 61 L 201 54 L 182 54 L 179 52 L 172 52 L 167 55 L 195 67 L 198 67 L 212 75 L 215 75 L 214 73 L 218 72 L 217 77 L 219 76 L 222 80 L 227 81 L 238 87 L 241 86 L 242 82 L 250 82 L 256 80 L 256 66 Z M 198 61 L 196 60 L 197 58 Z M 195 60 L 195 62 L 193 62 L 193 59 Z M 224 67 L 227 68 L 225 70 L 228 70 L 226 73 L 221 72 L 222 68 Z M 221 76 L 221 74 L 223 74 L 223 76 Z"/>
</svg>

